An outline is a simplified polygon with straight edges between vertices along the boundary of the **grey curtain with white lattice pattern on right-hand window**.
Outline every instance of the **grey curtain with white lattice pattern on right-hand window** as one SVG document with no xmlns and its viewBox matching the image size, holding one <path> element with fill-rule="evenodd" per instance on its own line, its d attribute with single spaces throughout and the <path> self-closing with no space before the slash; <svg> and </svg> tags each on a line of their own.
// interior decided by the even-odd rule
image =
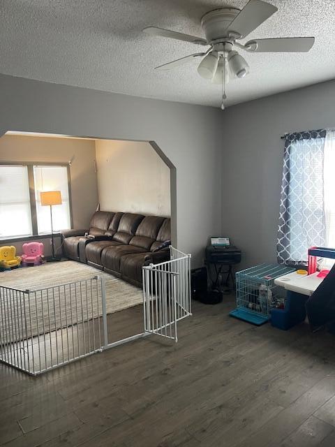
<svg viewBox="0 0 335 447">
<path fill-rule="evenodd" d="M 325 136 L 325 129 L 285 135 L 278 263 L 306 263 L 309 247 L 325 246 Z"/>
</svg>

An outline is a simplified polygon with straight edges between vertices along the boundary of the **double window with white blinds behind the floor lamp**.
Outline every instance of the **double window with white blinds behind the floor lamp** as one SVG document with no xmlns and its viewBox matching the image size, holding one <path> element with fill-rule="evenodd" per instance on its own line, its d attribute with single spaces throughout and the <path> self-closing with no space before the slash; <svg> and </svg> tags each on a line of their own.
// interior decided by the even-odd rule
<svg viewBox="0 0 335 447">
<path fill-rule="evenodd" d="M 53 228 L 71 228 L 67 166 L 0 166 L 0 239 L 51 233 L 41 191 L 61 191 L 62 204 L 52 207 Z"/>
</svg>

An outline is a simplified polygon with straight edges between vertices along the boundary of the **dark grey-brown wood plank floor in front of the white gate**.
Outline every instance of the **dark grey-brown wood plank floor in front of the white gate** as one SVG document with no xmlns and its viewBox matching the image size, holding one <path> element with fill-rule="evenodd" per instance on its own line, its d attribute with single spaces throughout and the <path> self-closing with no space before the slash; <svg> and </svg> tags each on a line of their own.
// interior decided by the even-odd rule
<svg viewBox="0 0 335 447">
<path fill-rule="evenodd" d="M 193 303 L 177 344 L 151 336 L 38 377 L 0 365 L 0 445 L 334 447 L 334 335 L 232 307 Z"/>
</svg>

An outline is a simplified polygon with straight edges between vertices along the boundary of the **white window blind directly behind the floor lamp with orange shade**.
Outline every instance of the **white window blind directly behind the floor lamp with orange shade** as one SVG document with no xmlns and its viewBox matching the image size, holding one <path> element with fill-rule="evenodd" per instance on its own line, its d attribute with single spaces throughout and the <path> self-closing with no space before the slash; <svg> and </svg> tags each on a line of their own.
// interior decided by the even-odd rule
<svg viewBox="0 0 335 447">
<path fill-rule="evenodd" d="M 68 230 L 71 224 L 66 166 L 34 166 L 34 182 L 38 234 L 51 233 L 50 207 L 40 204 L 41 191 L 61 191 L 61 205 L 52 206 L 52 224 L 54 231 Z"/>
</svg>

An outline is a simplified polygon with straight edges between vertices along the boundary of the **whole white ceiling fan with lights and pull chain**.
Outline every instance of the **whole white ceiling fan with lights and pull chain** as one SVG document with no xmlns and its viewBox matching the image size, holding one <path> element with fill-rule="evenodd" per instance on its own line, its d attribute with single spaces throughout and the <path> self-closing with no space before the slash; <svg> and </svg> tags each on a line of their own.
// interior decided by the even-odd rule
<svg viewBox="0 0 335 447">
<path fill-rule="evenodd" d="M 157 66 L 156 69 L 170 70 L 193 59 L 202 58 L 198 66 L 198 73 L 204 79 L 221 84 L 221 108 L 224 109 L 224 100 L 227 98 L 225 85 L 229 76 L 244 78 L 249 73 L 246 60 L 235 48 L 246 52 L 308 52 L 313 47 L 314 37 L 253 39 L 244 44 L 237 42 L 239 39 L 246 38 L 277 10 L 276 6 L 261 0 L 250 0 L 241 10 L 229 7 L 211 10 L 201 19 L 205 38 L 157 27 L 147 27 L 143 31 L 152 36 L 209 46 L 204 52 L 189 54 L 186 57 Z"/>
</svg>

